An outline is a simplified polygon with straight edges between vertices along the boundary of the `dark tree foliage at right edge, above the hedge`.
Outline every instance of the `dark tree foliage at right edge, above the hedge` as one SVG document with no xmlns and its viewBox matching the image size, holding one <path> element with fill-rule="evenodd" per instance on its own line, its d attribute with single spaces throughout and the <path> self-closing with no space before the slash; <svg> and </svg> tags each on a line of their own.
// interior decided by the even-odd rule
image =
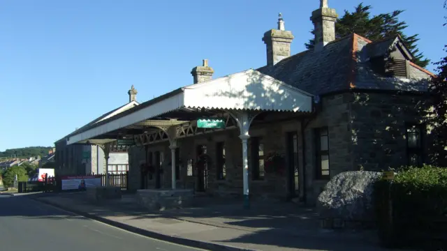
<svg viewBox="0 0 447 251">
<path fill-rule="evenodd" d="M 444 2 L 444 8 L 447 8 L 447 1 Z M 444 51 L 447 52 L 447 45 L 444 45 Z M 447 56 L 434 64 L 438 74 L 430 82 L 428 93 L 431 102 L 430 109 L 427 109 L 426 122 L 434 141 L 430 149 L 432 162 L 447 167 Z"/>
</svg>

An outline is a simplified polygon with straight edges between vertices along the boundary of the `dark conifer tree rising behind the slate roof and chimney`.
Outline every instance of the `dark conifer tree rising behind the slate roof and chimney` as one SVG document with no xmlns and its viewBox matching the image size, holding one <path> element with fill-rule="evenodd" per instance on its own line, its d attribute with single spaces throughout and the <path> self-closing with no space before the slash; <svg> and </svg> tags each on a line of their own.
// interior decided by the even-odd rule
<svg viewBox="0 0 447 251">
<path fill-rule="evenodd" d="M 404 29 L 408 25 L 406 25 L 406 22 L 399 20 L 399 15 L 404 10 L 395 10 L 392 13 L 384 13 L 371 17 L 371 13 L 369 12 L 371 9 L 372 6 L 363 6 L 363 3 L 360 3 L 351 13 L 348 10 L 344 10 L 344 15 L 335 23 L 336 38 L 357 33 L 369 40 L 377 41 L 390 36 L 400 35 L 406 47 L 408 47 L 415 57 L 414 63 L 425 68 L 430 63 L 430 60 L 423 56 L 422 52 L 419 52 L 417 48 L 416 43 L 419 40 L 418 34 L 412 36 L 406 36 L 404 34 Z M 314 34 L 314 31 L 311 31 L 311 33 Z M 314 44 L 315 40 L 311 39 L 305 45 L 307 49 L 311 49 L 314 47 Z"/>
</svg>

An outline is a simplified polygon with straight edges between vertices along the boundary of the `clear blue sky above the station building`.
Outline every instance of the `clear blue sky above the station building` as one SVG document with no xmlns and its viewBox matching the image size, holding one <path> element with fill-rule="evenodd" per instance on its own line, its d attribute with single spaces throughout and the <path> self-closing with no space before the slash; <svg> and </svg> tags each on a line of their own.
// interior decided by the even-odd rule
<svg viewBox="0 0 447 251">
<path fill-rule="evenodd" d="M 360 1 L 329 0 L 339 14 Z M 444 0 L 365 0 L 372 13 L 406 10 L 407 34 L 433 61 L 444 56 Z M 3 0 L 0 2 L 0 151 L 50 146 L 124 105 L 132 84 L 146 101 L 191 84 L 209 59 L 214 77 L 265 65 L 263 33 L 282 12 L 295 36 L 311 38 L 318 0 Z M 430 70 L 433 66 L 429 67 Z"/>
</svg>

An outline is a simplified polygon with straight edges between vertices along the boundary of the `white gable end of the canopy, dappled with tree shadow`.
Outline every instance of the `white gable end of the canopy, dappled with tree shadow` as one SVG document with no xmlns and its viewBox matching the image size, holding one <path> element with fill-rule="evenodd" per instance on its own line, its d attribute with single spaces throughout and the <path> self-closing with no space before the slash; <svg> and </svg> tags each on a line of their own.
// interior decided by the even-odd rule
<svg viewBox="0 0 447 251">
<path fill-rule="evenodd" d="M 185 86 L 184 106 L 218 109 L 309 110 L 312 94 L 258 72 L 219 77 Z"/>
</svg>

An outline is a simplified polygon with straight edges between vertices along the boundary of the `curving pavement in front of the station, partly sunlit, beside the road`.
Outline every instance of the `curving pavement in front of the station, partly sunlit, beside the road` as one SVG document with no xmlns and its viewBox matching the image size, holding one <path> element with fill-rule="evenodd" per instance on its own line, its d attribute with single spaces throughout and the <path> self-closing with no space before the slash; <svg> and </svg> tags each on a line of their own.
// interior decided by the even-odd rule
<svg viewBox="0 0 447 251">
<path fill-rule="evenodd" d="M 320 229 L 314 210 L 295 204 L 255 203 L 245 210 L 242 204 L 223 201 L 151 212 L 132 197 L 101 204 L 92 204 L 82 193 L 34 199 L 144 236 L 206 250 L 386 250 L 379 248 L 372 231 Z"/>
</svg>

